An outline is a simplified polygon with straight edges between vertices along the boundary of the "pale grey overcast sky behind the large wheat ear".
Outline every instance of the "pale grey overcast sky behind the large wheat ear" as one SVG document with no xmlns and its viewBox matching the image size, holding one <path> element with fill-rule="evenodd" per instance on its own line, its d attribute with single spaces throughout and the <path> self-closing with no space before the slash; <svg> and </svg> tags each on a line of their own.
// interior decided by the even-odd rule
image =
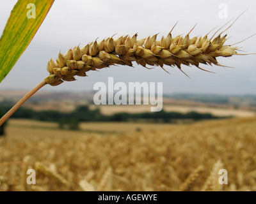
<svg viewBox="0 0 256 204">
<path fill-rule="evenodd" d="M 8 20 L 10 11 L 17 1 L 1 1 L 0 33 Z M 220 18 L 220 4 L 227 4 L 228 17 Z M 15 64 L 9 75 L 0 84 L 2 89 L 32 89 L 48 73 L 46 65 L 51 57 L 65 53 L 68 48 L 85 45 L 105 37 L 138 32 L 138 39 L 159 33 L 166 36 L 173 25 L 173 36 L 186 34 L 197 23 L 191 37 L 204 35 L 217 25 L 221 27 L 228 20 L 239 20 L 226 32 L 232 36 L 227 44 L 237 43 L 256 33 L 256 1 L 241 0 L 56 0 L 29 47 Z M 210 34 L 211 36 L 211 34 Z M 242 50 L 256 52 L 256 36 L 240 43 Z M 216 74 L 207 73 L 194 67 L 183 66 L 189 79 L 177 68 L 145 69 L 142 66 L 111 66 L 100 72 L 90 71 L 89 77 L 76 77 L 76 82 L 65 82 L 57 87 L 47 85 L 44 91 L 90 91 L 96 82 L 163 82 L 164 93 L 193 92 L 214 94 L 256 94 L 256 55 L 219 58 L 220 64 L 232 66 L 203 66 Z"/>
</svg>

